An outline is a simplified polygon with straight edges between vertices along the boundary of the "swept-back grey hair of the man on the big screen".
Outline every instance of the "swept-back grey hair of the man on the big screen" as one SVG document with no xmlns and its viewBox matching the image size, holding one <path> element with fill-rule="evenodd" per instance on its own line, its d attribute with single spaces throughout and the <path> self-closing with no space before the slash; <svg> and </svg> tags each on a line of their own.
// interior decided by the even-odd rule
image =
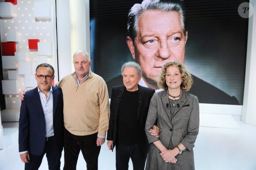
<svg viewBox="0 0 256 170">
<path fill-rule="evenodd" d="M 143 0 L 141 4 L 134 4 L 128 13 L 127 30 L 129 37 L 132 38 L 133 42 L 135 42 L 135 38 L 139 32 L 139 16 L 147 10 L 157 10 L 163 12 L 175 11 L 179 13 L 184 35 L 186 34 L 184 10 L 182 9 L 181 3 L 174 0 Z"/>
</svg>

